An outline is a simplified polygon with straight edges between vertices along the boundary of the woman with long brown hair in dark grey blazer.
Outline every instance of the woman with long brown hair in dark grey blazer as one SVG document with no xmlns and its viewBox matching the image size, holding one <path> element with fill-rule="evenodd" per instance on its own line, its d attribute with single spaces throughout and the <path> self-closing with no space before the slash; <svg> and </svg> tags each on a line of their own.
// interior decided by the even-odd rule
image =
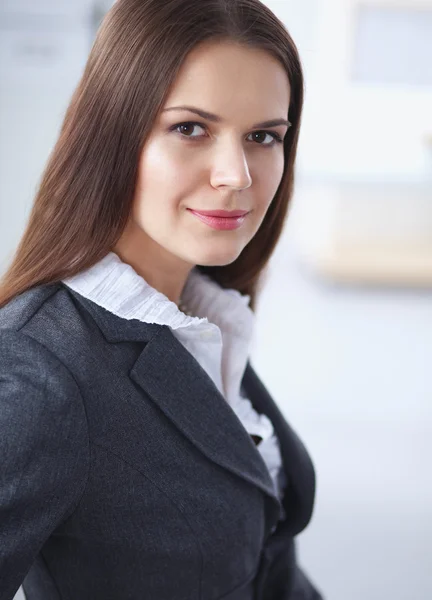
<svg viewBox="0 0 432 600">
<path fill-rule="evenodd" d="M 302 101 L 259 0 L 106 16 L 2 283 L 1 600 L 321 598 L 313 466 L 248 360 Z"/>
</svg>

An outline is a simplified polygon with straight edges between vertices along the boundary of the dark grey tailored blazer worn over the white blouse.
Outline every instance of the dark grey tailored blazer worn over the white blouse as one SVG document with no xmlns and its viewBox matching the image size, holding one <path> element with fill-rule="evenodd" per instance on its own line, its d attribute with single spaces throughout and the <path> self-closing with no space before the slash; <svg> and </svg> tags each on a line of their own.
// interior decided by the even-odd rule
<svg viewBox="0 0 432 600">
<path fill-rule="evenodd" d="M 250 435 L 167 326 L 63 283 L 0 310 L 0 600 L 320 600 L 294 536 L 311 460 L 248 363 L 273 422 L 286 519 Z"/>
</svg>

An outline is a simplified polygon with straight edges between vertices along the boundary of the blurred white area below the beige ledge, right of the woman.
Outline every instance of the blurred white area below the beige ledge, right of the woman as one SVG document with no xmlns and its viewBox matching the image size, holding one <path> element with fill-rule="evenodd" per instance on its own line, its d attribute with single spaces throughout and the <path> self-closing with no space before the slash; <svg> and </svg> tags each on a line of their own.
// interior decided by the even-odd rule
<svg viewBox="0 0 432 600">
<path fill-rule="evenodd" d="M 253 361 L 317 472 L 300 558 L 329 600 L 432 598 L 432 294 L 351 289 L 287 228 Z"/>
</svg>

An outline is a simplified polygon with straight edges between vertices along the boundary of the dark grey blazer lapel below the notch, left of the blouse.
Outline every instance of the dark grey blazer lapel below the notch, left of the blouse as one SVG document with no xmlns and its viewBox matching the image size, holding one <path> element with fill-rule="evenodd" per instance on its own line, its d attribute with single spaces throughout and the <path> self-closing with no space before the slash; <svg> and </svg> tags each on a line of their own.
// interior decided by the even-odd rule
<svg viewBox="0 0 432 600">
<path fill-rule="evenodd" d="M 235 412 L 172 331 L 161 326 L 130 377 L 214 463 L 256 485 L 279 506 L 267 466 Z"/>
</svg>

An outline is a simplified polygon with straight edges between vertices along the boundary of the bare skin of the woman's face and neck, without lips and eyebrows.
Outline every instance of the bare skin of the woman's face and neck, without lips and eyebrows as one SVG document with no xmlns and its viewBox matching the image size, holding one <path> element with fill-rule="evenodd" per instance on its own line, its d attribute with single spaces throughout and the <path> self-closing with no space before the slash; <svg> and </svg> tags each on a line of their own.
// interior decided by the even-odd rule
<svg viewBox="0 0 432 600">
<path fill-rule="evenodd" d="M 272 134 L 283 140 L 289 125 L 255 125 L 287 120 L 290 93 L 284 68 L 262 50 L 213 41 L 184 61 L 143 148 L 131 216 L 113 248 L 171 301 L 179 303 L 194 266 L 232 263 L 258 231 L 284 170 Z M 166 110 L 182 105 L 221 121 Z M 250 212 L 239 229 L 219 231 L 188 208 Z"/>
</svg>

